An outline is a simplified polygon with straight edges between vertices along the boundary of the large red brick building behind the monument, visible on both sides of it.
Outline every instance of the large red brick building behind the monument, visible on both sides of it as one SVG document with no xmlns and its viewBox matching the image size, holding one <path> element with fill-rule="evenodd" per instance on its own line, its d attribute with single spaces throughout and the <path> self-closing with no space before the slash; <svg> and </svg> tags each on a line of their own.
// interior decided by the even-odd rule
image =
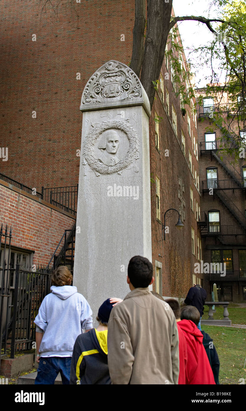
<svg viewBox="0 0 246 411">
<path fill-rule="evenodd" d="M 1 12 L 6 30 L 0 147 L 8 148 L 8 160 L 0 159 L 0 221 L 12 226 L 14 264 L 19 258 L 28 266 L 46 265 L 64 231 L 75 224 L 82 91 L 104 62 L 130 63 L 134 1 L 88 0 L 59 7 L 58 16 L 39 2 L 4 1 Z M 170 38 L 167 48 L 173 48 Z M 150 118 L 154 289 L 182 296 L 192 281 L 203 284 L 203 275 L 194 274 L 202 258 L 196 102 L 182 107 L 168 57 L 157 88 Z M 180 213 L 181 231 L 175 228 L 177 212 L 166 213 L 162 229 L 170 208 Z M 61 248 L 62 243 L 57 254 Z"/>
</svg>

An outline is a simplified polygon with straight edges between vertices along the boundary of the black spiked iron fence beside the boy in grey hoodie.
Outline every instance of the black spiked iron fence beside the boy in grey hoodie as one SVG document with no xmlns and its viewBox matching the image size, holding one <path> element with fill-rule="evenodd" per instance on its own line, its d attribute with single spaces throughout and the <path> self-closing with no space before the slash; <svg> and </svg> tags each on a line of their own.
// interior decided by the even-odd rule
<svg viewBox="0 0 246 411">
<path fill-rule="evenodd" d="M 50 272 L 46 268 L 24 270 L 11 266 L 11 229 L 0 229 L 0 362 L 9 353 L 32 349 L 34 319 L 43 298 L 50 292 Z M 7 261 L 6 261 L 7 260 Z M 35 271 L 34 271 L 35 268 Z"/>
</svg>

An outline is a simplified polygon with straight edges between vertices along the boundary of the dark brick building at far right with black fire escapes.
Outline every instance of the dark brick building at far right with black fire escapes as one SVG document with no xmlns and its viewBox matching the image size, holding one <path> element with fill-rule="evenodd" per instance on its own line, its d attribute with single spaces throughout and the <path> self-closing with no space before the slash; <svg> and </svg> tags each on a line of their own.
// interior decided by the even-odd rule
<svg viewBox="0 0 246 411">
<path fill-rule="evenodd" d="M 229 145 L 234 154 L 225 152 L 228 143 L 219 127 L 208 131 L 213 122 L 213 113 L 220 113 L 224 125 L 231 122 L 230 102 L 227 93 L 205 96 L 205 89 L 198 89 L 203 95 L 203 105 L 198 106 L 198 150 L 200 163 L 201 213 L 200 227 L 203 242 L 204 263 L 225 263 L 226 271 L 211 270 L 204 274 L 208 294 L 216 283 L 218 298 L 222 301 L 240 302 L 246 299 L 246 205 L 245 205 L 245 157 L 239 158 L 232 143 L 232 133 L 241 135 L 236 122 L 230 124 Z M 235 159 L 237 161 L 235 162 Z M 211 267 L 212 268 L 212 267 Z"/>
</svg>

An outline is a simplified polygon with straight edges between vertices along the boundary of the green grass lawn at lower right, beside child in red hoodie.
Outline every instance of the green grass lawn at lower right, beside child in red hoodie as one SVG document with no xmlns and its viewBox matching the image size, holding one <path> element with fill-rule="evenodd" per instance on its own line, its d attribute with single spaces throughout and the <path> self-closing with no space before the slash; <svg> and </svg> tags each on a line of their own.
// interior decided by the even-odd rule
<svg viewBox="0 0 246 411">
<path fill-rule="evenodd" d="M 202 330 L 213 339 L 219 356 L 219 383 L 239 384 L 239 378 L 246 379 L 246 329 L 202 325 Z"/>
</svg>

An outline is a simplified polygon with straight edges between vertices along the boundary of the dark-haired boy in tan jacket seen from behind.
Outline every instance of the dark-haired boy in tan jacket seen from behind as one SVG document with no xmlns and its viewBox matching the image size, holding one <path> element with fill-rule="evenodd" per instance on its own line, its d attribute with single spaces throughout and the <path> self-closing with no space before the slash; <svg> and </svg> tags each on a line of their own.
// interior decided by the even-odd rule
<svg viewBox="0 0 246 411">
<path fill-rule="evenodd" d="M 151 294 L 150 261 L 134 256 L 128 265 L 130 293 L 108 323 L 108 365 L 112 384 L 178 384 L 178 329 L 172 309 Z"/>
</svg>

